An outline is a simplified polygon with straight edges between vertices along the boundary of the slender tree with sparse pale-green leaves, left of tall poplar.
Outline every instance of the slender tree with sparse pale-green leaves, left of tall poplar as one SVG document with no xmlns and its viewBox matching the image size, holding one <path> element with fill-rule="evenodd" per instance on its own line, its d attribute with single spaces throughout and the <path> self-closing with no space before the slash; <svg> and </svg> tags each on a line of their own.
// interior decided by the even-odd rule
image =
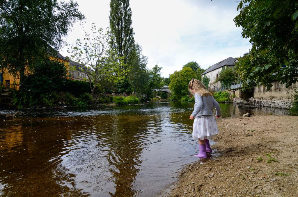
<svg viewBox="0 0 298 197">
<path fill-rule="evenodd" d="M 71 57 L 82 66 L 74 66 L 72 69 L 83 72 L 89 79 L 91 95 L 100 79 L 108 78 L 119 81 L 119 68 L 126 68 L 122 58 L 115 56 L 112 49 L 108 49 L 109 31 L 103 32 L 103 28 L 97 30 L 95 24 L 91 27 L 92 34 L 85 31 L 84 43 L 77 39 L 76 45 L 70 45 L 68 52 Z M 90 71 L 91 70 L 91 71 Z M 128 69 L 121 72 L 128 72 Z"/>
</svg>

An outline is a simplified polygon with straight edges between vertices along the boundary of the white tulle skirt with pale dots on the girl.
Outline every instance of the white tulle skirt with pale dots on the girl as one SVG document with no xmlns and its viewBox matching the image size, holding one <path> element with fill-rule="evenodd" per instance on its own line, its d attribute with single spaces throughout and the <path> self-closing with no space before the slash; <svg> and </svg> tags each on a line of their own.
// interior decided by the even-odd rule
<svg viewBox="0 0 298 197">
<path fill-rule="evenodd" d="M 193 121 L 193 139 L 210 139 L 216 134 L 218 126 L 213 115 L 195 118 Z"/>
</svg>

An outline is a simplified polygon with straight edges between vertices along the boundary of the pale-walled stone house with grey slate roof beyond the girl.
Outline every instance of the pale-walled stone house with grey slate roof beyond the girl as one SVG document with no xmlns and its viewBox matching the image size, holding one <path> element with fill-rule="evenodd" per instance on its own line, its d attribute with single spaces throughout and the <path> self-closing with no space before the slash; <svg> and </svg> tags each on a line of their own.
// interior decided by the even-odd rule
<svg viewBox="0 0 298 197">
<path fill-rule="evenodd" d="M 236 62 L 239 62 L 239 60 L 233 57 L 228 57 L 225 60 L 210 66 L 204 73 L 201 74 L 202 78 L 203 76 L 207 76 L 210 79 L 209 85 L 206 88 L 208 90 L 212 89 L 213 91 L 221 90 L 221 82 L 215 83 L 216 78 L 218 78 L 222 68 L 232 68 L 235 66 Z"/>
</svg>

